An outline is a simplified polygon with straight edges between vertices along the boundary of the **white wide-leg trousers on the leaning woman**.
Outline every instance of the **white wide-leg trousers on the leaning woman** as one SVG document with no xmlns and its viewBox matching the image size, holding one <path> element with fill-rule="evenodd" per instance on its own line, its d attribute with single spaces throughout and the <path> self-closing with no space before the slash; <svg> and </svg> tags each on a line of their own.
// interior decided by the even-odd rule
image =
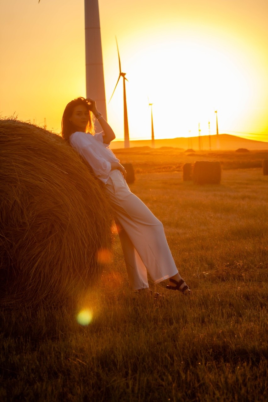
<svg viewBox="0 0 268 402">
<path fill-rule="evenodd" d="M 123 249 L 132 289 L 149 287 L 178 273 L 162 223 L 131 193 L 122 173 L 112 170 L 105 185 Z M 147 271 L 146 271 L 147 270 Z"/>
</svg>

